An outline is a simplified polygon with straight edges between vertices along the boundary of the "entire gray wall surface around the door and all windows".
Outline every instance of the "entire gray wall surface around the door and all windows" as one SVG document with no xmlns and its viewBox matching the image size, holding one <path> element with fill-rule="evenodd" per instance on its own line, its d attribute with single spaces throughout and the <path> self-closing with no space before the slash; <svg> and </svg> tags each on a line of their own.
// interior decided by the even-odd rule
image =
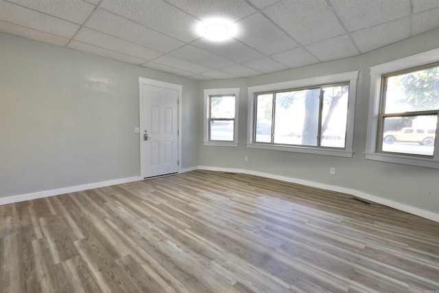
<svg viewBox="0 0 439 293">
<path fill-rule="evenodd" d="M 182 167 L 308 180 L 439 214 L 439 170 L 364 159 L 369 67 L 439 47 L 439 30 L 368 54 L 254 78 L 197 82 L 0 33 L 0 198 L 139 176 L 137 78 L 183 85 Z M 352 159 L 246 148 L 247 86 L 359 70 Z M 202 144 L 203 89 L 239 87 L 239 147 Z M 249 161 L 244 162 L 244 156 Z M 329 174 L 329 167 L 336 174 Z"/>
</svg>

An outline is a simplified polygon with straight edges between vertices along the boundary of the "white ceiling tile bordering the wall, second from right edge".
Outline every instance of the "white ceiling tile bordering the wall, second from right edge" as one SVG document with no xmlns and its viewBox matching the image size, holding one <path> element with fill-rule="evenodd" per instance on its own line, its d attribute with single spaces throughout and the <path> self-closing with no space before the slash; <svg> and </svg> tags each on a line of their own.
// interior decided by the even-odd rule
<svg viewBox="0 0 439 293">
<path fill-rule="evenodd" d="M 410 17 L 352 32 L 351 36 L 360 51 L 366 53 L 408 38 L 410 36 Z"/>
</svg>

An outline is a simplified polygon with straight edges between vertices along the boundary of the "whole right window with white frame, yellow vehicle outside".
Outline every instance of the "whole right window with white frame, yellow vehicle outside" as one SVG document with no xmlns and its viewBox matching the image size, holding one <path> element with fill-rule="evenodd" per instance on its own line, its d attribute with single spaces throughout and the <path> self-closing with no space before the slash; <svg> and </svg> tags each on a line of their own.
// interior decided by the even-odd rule
<svg viewBox="0 0 439 293">
<path fill-rule="evenodd" d="M 439 50 L 370 72 L 366 159 L 439 168 Z"/>
</svg>

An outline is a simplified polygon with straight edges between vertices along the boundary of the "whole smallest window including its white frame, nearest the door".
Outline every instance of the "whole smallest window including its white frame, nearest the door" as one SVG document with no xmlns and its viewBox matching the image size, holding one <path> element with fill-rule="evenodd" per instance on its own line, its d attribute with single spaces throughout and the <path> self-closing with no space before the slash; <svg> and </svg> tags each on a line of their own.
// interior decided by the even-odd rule
<svg viewBox="0 0 439 293">
<path fill-rule="evenodd" d="M 204 145 L 238 145 L 239 89 L 205 89 Z"/>
</svg>

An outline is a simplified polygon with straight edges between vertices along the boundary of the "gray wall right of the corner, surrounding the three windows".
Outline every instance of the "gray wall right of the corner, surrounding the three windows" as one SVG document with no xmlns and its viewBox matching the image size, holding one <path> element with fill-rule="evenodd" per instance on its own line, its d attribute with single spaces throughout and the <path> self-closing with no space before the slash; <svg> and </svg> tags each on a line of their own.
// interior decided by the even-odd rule
<svg viewBox="0 0 439 293">
<path fill-rule="evenodd" d="M 241 106 L 239 109 L 239 147 L 205 147 L 200 143 L 200 165 L 204 167 L 244 169 L 250 172 L 263 172 L 275 176 L 307 180 L 320 185 L 350 189 L 357 191 L 358 194 L 368 194 L 439 214 L 439 169 L 364 159 L 370 91 L 369 67 L 423 51 L 437 49 L 438 47 L 439 30 L 433 30 L 362 56 L 260 75 L 244 80 L 200 82 L 200 96 L 202 95 L 202 89 L 230 86 L 241 88 L 239 97 Z M 246 148 L 247 86 L 357 70 L 360 71 L 360 77 L 357 85 L 355 107 L 355 153 L 352 159 Z M 202 105 L 199 106 L 199 110 L 202 111 Z M 201 124 L 202 117 L 200 119 Z M 198 131 L 202 131 L 202 128 Z M 248 156 L 248 163 L 244 162 L 244 156 Z M 335 175 L 329 174 L 330 167 L 335 167 Z"/>
</svg>

